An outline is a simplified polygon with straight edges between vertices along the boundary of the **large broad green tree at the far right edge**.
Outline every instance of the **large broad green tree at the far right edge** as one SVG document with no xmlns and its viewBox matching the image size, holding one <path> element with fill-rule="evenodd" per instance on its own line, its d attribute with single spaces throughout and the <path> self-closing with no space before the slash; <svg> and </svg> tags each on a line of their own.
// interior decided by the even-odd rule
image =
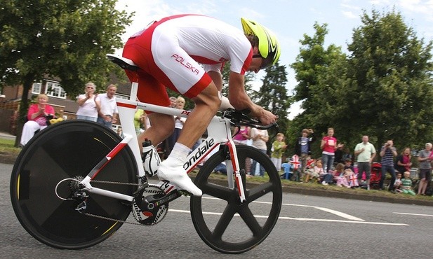
<svg viewBox="0 0 433 259">
<path fill-rule="evenodd" d="M 418 39 L 395 10 L 364 11 L 361 22 L 348 45 L 347 114 L 377 146 L 386 139 L 399 149 L 422 146 L 433 137 L 432 41 Z"/>
</svg>

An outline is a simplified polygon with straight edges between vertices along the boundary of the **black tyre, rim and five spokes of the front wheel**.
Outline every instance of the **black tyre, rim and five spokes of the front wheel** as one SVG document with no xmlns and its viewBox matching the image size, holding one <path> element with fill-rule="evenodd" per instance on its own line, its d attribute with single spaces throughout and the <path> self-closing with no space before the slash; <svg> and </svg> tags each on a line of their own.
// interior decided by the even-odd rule
<svg viewBox="0 0 433 259">
<path fill-rule="evenodd" d="M 274 228 L 281 211 L 281 179 L 271 160 L 269 160 L 267 155 L 261 153 L 256 148 L 244 145 L 237 146 L 237 156 L 240 169 L 245 168 L 246 158 L 256 160 L 258 164 L 265 168 L 265 172 L 267 172 L 269 176 L 269 181 L 259 183 L 258 185 L 250 185 L 246 184 L 246 175 L 242 175 L 246 202 L 241 203 L 236 185 L 234 185 L 235 188 L 233 190 L 227 187 L 227 180 L 218 181 L 218 179 L 215 180 L 210 177 L 214 172 L 213 169 L 229 158 L 227 148 L 222 147 L 220 151 L 212 155 L 211 158 L 204 163 L 204 166 L 199 170 L 194 180 L 196 186 L 203 191 L 204 196 L 193 196 L 191 197 L 190 203 L 192 222 L 196 232 L 208 246 L 221 253 L 244 253 L 258 246 Z M 265 194 L 272 196 L 272 203 L 269 202 L 271 207 L 268 211 L 269 215 L 266 215 L 267 220 L 259 226 L 258 218 L 255 217 L 249 207 L 251 206 L 251 202 Z M 208 211 L 204 212 L 204 199 L 208 196 L 218 197 L 218 200 L 221 199 L 227 202 L 227 205 L 223 205 L 225 208 L 218 220 L 215 220 L 216 215 L 218 215 L 218 213 L 215 213 L 216 211 L 211 213 L 208 213 Z M 210 207 L 213 209 L 212 205 Z M 252 233 L 246 236 L 241 234 L 240 237 L 229 240 L 232 239 L 232 237 L 227 237 L 226 239 L 224 232 L 229 229 L 230 221 L 233 220 L 234 214 L 236 213 L 241 215 L 240 218 L 244 220 Z M 209 217 L 213 218 L 209 221 L 207 218 L 205 219 L 205 214 L 211 214 Z M 241 232 L 240 229 L 232 230 L 231 235 L 236 236 L 238 231 Z"/>
</svg>

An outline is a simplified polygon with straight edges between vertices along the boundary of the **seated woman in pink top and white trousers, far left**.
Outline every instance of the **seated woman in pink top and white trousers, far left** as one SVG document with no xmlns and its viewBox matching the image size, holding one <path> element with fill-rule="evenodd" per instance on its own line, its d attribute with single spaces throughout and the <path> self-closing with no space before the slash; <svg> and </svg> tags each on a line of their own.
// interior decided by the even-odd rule
<svg viewBox="0 0 433 259">
<path fill-rule="evenodd" d="M 46 94 L 39 94 L 37 99 L 38 103 L 30 105 L 27 112 L 27 123 L 22 127 L 21 146 L 25 146 L 32 139 L 36 130 L 44 130 L 46 128 L 46 116 L 54 116 L 53 106 L 46 104 L 48 96 Z"/>
</svg>

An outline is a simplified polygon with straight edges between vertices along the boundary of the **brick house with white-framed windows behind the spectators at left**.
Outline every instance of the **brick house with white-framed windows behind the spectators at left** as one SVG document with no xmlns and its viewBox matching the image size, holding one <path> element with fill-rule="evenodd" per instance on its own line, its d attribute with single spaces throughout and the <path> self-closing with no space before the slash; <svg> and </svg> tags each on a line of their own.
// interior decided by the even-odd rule
<svg viewBox="0 0 433 259">
<path fill-rule="evenodd" d="M 110 82 L 117 85 L 116 98 L 128 99 L 131 85 L 118 83 L 119 80 L 115 76 L 112 76 L 111 79 Z M 38 94 L 44 93 L 49 97 L 48 104 L 53 106 L 56 116 L 62 117 L 64 120 L 73 120 L 76 118 L 78 104 L 68 97 L 67 92 L 63 90 L 60 84 L 60 80 L 44 78 L 41 83 L 33 84 L 32 89 L 29 90 L 29 99 L 34 99 Z M 99 86 L 98 90 L 105 92 L 107 85 Z M 22 90 L 22 85 L 13 85 L 4 87 L 0 93 L 0 132 L 16 134 L 16 121 L 18 120 Z M 114 125 L 114 130 L 117 127 L 119 125 Z"/>
</svg>

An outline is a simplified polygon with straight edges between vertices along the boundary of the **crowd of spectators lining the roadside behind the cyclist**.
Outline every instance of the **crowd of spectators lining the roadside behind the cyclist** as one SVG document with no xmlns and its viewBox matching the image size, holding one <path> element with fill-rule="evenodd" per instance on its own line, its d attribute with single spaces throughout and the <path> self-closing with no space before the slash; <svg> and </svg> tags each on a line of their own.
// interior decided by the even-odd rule
<svg viewBox="0 0 433 259">
<path fill-rule="evenodd" d="M 116 85 L 108 85 L 106 92 L 95 94 L 96 86 L 89 82 L 85 85 L 84 94 L 77 97 L 79 109 L 77 119 L 91 120 L 105 127 L 112 128 L 117 123 L 118 111 L 116 107 Z M 183 109 L 185 99 L 171 97 L 171 107 Z M 29 107 L 26 116 L 27 122 L 22 130 L 20 144 L 25 146 L 39 130 L 50 125 L 55 118 L 54 109 L 47 104 L 46 94 L 39 94 L 37 103 Z M 171 137 L 157 146 L 161 159 L 167 158 L 176 142 L 185 118 L 175 117 L 175 130 Z M 57 122 L 57 121 L 55 121 Z M 135 112 L 134 126 L 137 134 L 141 134 L 151 125 L 146 113 L 140 109 Z M 121 127 L 117 133 L 123 137 Z M 321 154 L 313 156 L 311 145 L 316 141 L 312 129 L 301 131 L 300 137 L 295 141 L 293 153 L 288 151 L 283 133 L 277 133 L 272 144 L 267 148 L 270 137 L 267 130 L 258 130 L 249 127 L 234 129 L 234 143 L 250 145 L 264 154 L 268 154 L 272 163 L 280 172 L 282 179 L 298 181 L 301 183 L 315 182 L 325 186 L 335 185 L 345 188 L 365 188 L 371 190 L 388 190 L 391 193 L 404 193 L 408 195 L 432 195 L 432 144 L 425 144 L 415 157 L 418 168 L 413 168 L 411 148 L 405 147 L 400 153 L 394 146 L 392 139 L 385 141 L 376 150 L 369 142 L 368 136 L 363 136 L 361 142 L 353 149 L 338 142 L 334 137 L 334 129 L 328 128 L 326 135 L 321 138 Z M 196 143 L 198 146 L 200 141 Z M 289 154 L 290 158 L 285 158 Z M 378 160 L 375 162 L 375 160 Z M 220 165 L 224 167 L 225 165 Z M 255 160 L 245 162 L 248 177 L 264 177 L 266 172 L 262 165 Z M 225 169 L 219 170 L 224 171 Z M 415 172 L 413 174 L 412 172 Z M 387 175 L 389 174 L 389 181 Z M 386 183 L 386 184 L 385 184 Z"/>
</svg>

